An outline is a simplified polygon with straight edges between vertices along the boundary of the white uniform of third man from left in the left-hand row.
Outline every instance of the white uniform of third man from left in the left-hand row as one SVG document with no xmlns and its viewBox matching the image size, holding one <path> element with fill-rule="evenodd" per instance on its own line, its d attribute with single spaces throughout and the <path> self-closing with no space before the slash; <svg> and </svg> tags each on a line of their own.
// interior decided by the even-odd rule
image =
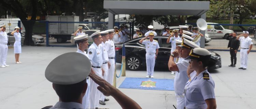
<svg viewBox="0 0 256 109">
<path fill-rule="evenodd" d="M 106 41 L 107 42 L 107 41 Z M 104 75 L 102 76 L 102 78 L 104 80 L 108 80 L 108 72 L 109 72 L 109 66 L 108 66 L 108 61 L 109 61 L 109 56 L 108 56 L 108 51 L 106 49 L 106 45 L 105 43 L 102 41 L 101 44 L 99 45 L 100 47 L 100 51 L 102 52 L 102 69 L 104 71 Z M 105 96 L 100 92 L 100 99 L 104 101 Z"/>
</svg>

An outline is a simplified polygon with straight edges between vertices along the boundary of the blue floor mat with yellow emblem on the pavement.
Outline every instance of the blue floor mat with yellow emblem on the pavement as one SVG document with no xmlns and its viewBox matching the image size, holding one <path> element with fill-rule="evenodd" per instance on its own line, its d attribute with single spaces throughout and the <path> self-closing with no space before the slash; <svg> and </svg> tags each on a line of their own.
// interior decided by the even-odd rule
<svg viewBox="0 0 256 109">
<path fill-rule="evenodd" d="M 126 77 L 119 88 L 173 91 L 173 82 L 173 79 Z"/>
</svg>

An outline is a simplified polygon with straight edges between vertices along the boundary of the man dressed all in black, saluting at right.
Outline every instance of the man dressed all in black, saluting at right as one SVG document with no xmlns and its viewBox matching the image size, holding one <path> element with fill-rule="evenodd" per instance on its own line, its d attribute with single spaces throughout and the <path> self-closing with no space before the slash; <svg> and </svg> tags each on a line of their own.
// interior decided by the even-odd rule
<svg viewBox="0 0 256 109">
<path fill-rule="evenodd" d="M 229 65 L 230 67 L 236 67 L 236 64 L 237 64 L 237 51 L 238 51 L 238 48 L 240 46 L 240 41 L 237 40 L 237 33 L 234 32 L 234 33 L 231 33 L 229 34 L 229 36 L 232 36 L 230 37 L 228 40 L 228 48 L 229 49 L 229 52 L 230 52 L 230 60 L 231 60 L 231 64 Z"/>
</svg>

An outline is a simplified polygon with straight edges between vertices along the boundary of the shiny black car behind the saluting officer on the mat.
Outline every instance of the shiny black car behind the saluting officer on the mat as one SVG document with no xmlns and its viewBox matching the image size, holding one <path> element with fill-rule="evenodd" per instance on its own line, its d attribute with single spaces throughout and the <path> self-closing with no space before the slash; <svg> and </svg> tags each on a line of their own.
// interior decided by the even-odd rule
<svg viewBox="0 0 256 109">
<path fill-rule="evenodd" d="M 131 71 L 137 71 L 142 66 L 146 66 L 146 50 L 145 45 L 140 44 L 139 41 L 143 37 L 134 38 L 132 40 L 124 42 L 125 44 L 125 57 L 126 57 L 126 68 L 130 69 Z M 156 59 L 155 66 L 156 67 L 163 67 L 168 68 L 168 61 L 171 54 L 171 44 L 167 44 L 167 36 L 155 36 L 154 40 L 158 41 L 159 49 L 158 49 L 158 56 Z M 122 63 L 122 48 L 123 44 L 116 44 L 116 62 Z M 216 69 L 221 68 L 221 56 L 217 53 L 209 50 L 211 53 L 211 60 L 208 69 Z"/>
</svg>

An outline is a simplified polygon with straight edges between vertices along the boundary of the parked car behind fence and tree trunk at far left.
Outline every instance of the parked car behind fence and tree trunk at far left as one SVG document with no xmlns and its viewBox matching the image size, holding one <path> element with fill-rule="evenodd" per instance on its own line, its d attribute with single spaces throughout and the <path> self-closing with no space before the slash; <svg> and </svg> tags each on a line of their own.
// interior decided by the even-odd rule
<svg viewBox="0 0 256 109">
<path fill-rule="evenodd" d="M 15 42 L 15 37 L 11 34 L 11 32 L 6 32 L 8 35 L 8 44 L 9 45 L 13 45 Z M 22 36 L 21 43 L 24 44 L 24 40 L 26 37 L 25 31 L 21 32 L 20 35 Z M 44 37 L 41 35 L 32 33 L 32 41 L 33 41 L 34 45 L 41 45 L 41 43 L 44 43 Z"/>
</svg>

